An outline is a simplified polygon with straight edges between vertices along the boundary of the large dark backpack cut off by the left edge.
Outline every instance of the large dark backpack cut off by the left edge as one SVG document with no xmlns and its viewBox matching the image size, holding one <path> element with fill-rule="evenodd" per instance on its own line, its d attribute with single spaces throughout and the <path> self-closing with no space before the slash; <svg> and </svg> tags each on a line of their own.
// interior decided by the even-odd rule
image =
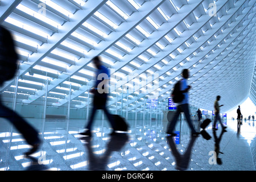
<svg viewBox="0 0 256 182">
<path fill-rule="evenodd" d="M 14 78 L 18 69 L 18 54 L 13 38 L 6 28 L 0 26 L 0 84 Z"/>
</svg>

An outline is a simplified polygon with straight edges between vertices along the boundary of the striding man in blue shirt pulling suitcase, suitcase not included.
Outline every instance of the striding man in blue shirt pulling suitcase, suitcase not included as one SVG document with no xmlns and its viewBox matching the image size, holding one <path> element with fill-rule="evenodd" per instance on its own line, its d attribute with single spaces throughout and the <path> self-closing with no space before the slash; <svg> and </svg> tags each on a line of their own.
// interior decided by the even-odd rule
<svg viewBox="0 0 256 182">
<path fill-rule="evenodd" d="M 92 136 L 91 129 L 92 129 L 92 123 L 94 116 L 96 114 L 96 111 L 98 109 L 104 110 L 104 113 L 106 114 L 106 117 L 109 119 L 110 124 L 114 128 L 114 120 L 112 115 L 109 113 L 109 111 L 106 109 L 106 101 L 109 93 L 108 83 L 109 83 L 109 70 L 104 65 L 101 64 L 100 57 L 96 56 L 93 58 L 93 64 L 97 68 L 96 72 L 96 81 L 93 88 L 90 90 L 91 93 L 94 93 L 93 98 L 93 110 L 89 118 L 89 122 L 87 126 L 85 127 L 86 131 L 80 133 L 81 135 L 85 136 Z"/>
</svg>

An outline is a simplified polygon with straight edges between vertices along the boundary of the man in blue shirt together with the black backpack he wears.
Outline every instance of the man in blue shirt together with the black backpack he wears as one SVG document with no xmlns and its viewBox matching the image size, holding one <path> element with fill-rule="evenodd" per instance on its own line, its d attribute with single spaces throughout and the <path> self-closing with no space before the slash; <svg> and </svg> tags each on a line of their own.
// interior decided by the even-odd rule
<svg viewBox="0 0 256 182">
<path fill-rule="evenodd" d="M 187 79 L 189 77 L 189 70 L 183 69 L 181 73 L 181 80 L 178 81 L 175 86 L 174 90 L 172 92 L 172 100 L 177 105 L 176 113 L 174 114 L 174 117 L 172 117 L 172 120 L 169 121 L 168 127 L 167 127 L 167 134 L 170 134 L 171 136 L 175 137 L 176 134 L 174 133 L 174 127 L 176 125 L 177 119 L 181 112 L 184 112 L 186 121 L 188 123 L 189 128 L 191 129 L 191 135 L 197 136 L 199 133 L 196 132 L 194 129 L 190 113 L 189 113 L 189 102 L 188 102 L 188 90 L 191 89 L 191 86 L 187 84 Z"/>
</svg>

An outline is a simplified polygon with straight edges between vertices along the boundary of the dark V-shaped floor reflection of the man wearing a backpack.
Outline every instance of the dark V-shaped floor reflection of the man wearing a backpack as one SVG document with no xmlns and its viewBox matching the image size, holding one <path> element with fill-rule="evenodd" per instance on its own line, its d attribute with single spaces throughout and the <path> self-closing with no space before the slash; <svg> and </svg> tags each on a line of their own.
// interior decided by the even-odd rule
<svg viewBox="0 0 256 182">
<path fill-rule="evenodd" d="M 172 155 L 174 155 L 174 157 L 175 157 L 177 170 L 183 171 L 188 168 L 188 164 L 190 162 L 191 150 L 192 150 L 192 147 L 193 147 L 197 137 L 198 136 L 191 137 L 189 144 L 187 146 L 187 150 L 185 151 L 185 153 L 183 155 L 181 155 L 177 151 L 176 145 L 174 144 L 174 138 L 172 136 L 166 137 L 167 142 L 171 148 Z"/>
</svg>

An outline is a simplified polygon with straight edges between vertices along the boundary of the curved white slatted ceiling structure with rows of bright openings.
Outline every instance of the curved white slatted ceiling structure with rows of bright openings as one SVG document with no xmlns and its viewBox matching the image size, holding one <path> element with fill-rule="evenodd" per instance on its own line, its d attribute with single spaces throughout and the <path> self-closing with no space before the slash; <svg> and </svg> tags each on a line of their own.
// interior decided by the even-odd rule
<svg viewBox="0 0 256 182">
<path fill-rule="evenodd" d="M 3 0 L 0 23 L 19 53 L 17 102 L 46 97 L 47 105 L 86 107 L 96 70 L 91 59 L 101 56 L 112 73 L 110 109 L 144 111 L 145 98 L 166 100 L 184 68 L 192 105 L 213 110 L 217 95 L 224 112 L 248 96 L 256 104 L 255 3 Z M 118 96 L 125 86 L 132 92 Z M 15 88 L 15 79 L 5 83 L 4 101 Z"/>
</svg>

